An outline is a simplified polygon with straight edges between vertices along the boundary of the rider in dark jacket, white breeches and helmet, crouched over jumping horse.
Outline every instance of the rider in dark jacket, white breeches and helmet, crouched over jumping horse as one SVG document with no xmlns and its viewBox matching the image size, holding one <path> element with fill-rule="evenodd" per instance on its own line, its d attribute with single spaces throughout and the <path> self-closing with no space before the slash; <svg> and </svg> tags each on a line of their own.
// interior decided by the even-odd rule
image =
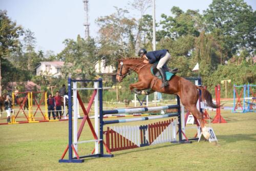
<svg viewBox="0 0 256 171">
<path fill-rule="evenodd" d="M 166 75 L 163 70 L 163 66 L 169 61 L 170 59 L 170 54 L 167 49 L 162 49 L 159 51 L 151 51 L 151 52 L 146 52 L 145 49 L 140 49 L 139 50 L 139 56 L 142 58 L 145 58 L 147 60 L 144 60 L 144 63 L 155 63 L 156 61 L 159 61 L 157 64 L 157 69 L 159 70 L 161 77 L 162 77 L 162 86 L 161 88 L 165 86 L 169 86 L 168 81 L 166 80 Z"/>
</svg>

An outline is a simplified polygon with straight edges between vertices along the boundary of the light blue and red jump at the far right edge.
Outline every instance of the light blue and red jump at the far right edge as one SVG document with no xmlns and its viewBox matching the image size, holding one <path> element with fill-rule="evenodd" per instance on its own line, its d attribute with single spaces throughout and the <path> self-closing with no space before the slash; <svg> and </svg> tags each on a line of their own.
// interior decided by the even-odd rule
<svg viewBox="0 0 256 171">
<path fill-rule="evenodd" d="M 239 93 L 239 90 L 240 93 Z M 233 108 L 232 113 L 246 113 L 256 111 L 256 93 L 254 93 L 253 88 L 256 85 L 244 84 L 242 86 L 233 86 Z M 241 99 L 243 95 L 243 100 Z M 236 100 L 237 99 L 237 100 Z M 243 102 L 242 102 L 243 101 Z"/>
</svg>

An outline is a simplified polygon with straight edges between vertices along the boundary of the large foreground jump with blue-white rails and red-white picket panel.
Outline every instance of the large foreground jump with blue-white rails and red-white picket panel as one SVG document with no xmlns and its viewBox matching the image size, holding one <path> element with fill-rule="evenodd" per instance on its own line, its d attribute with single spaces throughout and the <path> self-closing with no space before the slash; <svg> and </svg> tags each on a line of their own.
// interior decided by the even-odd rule
<svg viewBox="0 0 256 171">
<path fill-rule="evenodd" d="M 77 82 L 94 82 L 94 88 L 77 88 Z M 78 90 L 93 90 L 93 94 L 86 109 L 83 105 L 81 97 L 78 93 Z M 74 80 L 68 79 L 68 93 L 69 93 L 69 143 L 61 156 L 59 162 L 75 162 L 81 163 L 84 161 L 83 158 L 87 157 L 113 157 L 114 155 L 111 152 L 130 149 L 135 147 L 142 147 L 147 145 L 152 145 L 162 142 L 174 142 L 174 143 L 190 143 L 190 141 L 183 140 L 181 129 L 181 109 L 180 109 L 180 99 L 177 96 L 176 105 L 166 105 L 166 106 L 157 106 L 157 107 L 148 107 L 148 108 L 132 108 L 132 109 L 118 109 L 118 110 L 103 110 L 103 99 L 102 99 L 102 79 L 98 80 Z M 77 101 L 79 102 L 82 111 L 83 119 L 79 128 L 77 127 L 77 109 L 74 108 L 74 124 L 72 120 L 72 92 L 73 92 L 73 105 L 77 106 Z M 90 120 L 89 112 L 91 106 L 94 103 L 94 126 Z M 157 110 L 166 110 L 166 109 L 177 109 L 175 113 L 166 113 L 165 115 L 158 116 L 149 116 L 141 118 L 131 118 L 131 119 L 118 119 L 118 120 L 103 120 L 103 116 L 106 114 L 121 114 L 121 113 L 138 113 L 138 112 L 147 112 L 147 111 L 157 111 Z M 158 122 L 154 124 L 140 125 L 140 126 L 126 126 L 126 127 L 107 127 L 106 131 L 103 131 L 104 125 L 114 124 L 114 123 L 125 123 L 125 122 L 134 122 L 142 120 L 152 120 L 159 118 L 169 118 L 177 117 L 177 120 L 167 120 L 164 122 Z M 83 126 L 86 123 L 89 124 L 90 130 L 94 137 L 93 140 L 78 141 Z M 176 126 L 178 126 L 178 137 L 176 138 Z M 105 136 L 105 139 L 104 139 Z M 95 148 L 93 149 L 91 155 L 80 156 L 78 155 L 78 144 L 94 142 Z M 105 147 L 108 154 L 104 154 Z M 66 153 L 68 152 L 68 159 L 64 159 Z"/>
</svg>

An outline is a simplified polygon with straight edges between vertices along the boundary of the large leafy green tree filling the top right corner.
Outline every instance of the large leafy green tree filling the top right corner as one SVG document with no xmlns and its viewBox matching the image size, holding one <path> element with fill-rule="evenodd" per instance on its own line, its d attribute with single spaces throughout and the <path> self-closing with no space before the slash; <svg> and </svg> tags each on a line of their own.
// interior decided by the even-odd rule
<svg viewBox="0 0 256 171">
<path fill-rule="evenodd" d="M 256 13 L 243 0 L 214 0 L 204 18 L 207 31 L 224 42 L 229 57 L 243 48 L 255 51 Z"/>
</svg>

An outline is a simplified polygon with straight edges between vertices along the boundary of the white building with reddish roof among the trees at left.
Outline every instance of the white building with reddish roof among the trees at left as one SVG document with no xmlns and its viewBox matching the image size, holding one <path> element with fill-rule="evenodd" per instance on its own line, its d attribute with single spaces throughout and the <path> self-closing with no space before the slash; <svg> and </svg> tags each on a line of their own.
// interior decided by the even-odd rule
<svg viewBox="0 0 256 171">
<path fill-rule="evenodd" d="M 40 62 L 35 68 L 36 75 L 52 75 L 54 77 L 61 76 L 61 68 L 64 66 L 63 61 L 47 61 Z"/>
</svg>

